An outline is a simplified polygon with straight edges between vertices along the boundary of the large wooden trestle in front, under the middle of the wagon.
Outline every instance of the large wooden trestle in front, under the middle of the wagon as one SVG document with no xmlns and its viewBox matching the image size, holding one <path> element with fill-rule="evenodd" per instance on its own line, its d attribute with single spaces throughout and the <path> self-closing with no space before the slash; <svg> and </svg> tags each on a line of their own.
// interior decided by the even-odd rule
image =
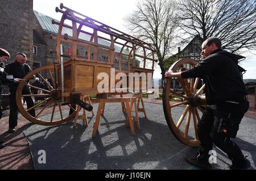
<svg viewBox="0 0 256 181">
<path fill-rule="evenodd" d="M 97 116 L 96 116 L 96 121 L 94 122 L 93 126 L 93 133 L 92 137 L 96 136 L 97 130 L 98 130 L 98 125 L 100 124 L 100 118 L 101 115 L 104 115 L 105 111 L 105 104 L 106 103 L 122 103 L 126 107 L 126 113 L 127 113 L 127 119 L 126 119 L 126 127 L 130 127 L 131 130 L 131 135 L 135 136 L 135 130 L 134 130 L 134 123 L 133 123 L 133 116 L 131 116 L 131 110 L 134 107 L 135 108 L 135 121 L 137 121 L 137 128 L 139 129 L 139 119 L 138 119 L 138 111 L 137 111 L 137 96 L 133 97 L 121 97 L 121 98 L 101 98 L 100 99 L 100 104 L 98 106 L 98 111 L 97 111 Z"/>
</svg>

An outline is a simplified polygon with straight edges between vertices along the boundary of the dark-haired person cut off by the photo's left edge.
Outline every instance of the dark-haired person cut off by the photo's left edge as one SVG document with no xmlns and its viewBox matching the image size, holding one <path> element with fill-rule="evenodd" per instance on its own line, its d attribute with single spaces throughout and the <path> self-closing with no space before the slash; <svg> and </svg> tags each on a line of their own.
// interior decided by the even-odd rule
<svg viewBox="0 0 256 181">
<path fill-rule="evenodd" d="M 7 59 L 10 58 L 10 53 L 7 52 L 5 49 L 0 48 L 0 101 L 1 101 L 1 94 L 2 94 L 2 78 L 4 74 L 5 62 Z M 0 119 L 2 118 L 2 107 L 0 106 Z M 5 145 L 3 141 L 0 140 L 0 149 L 4 148 Z"/>
</svg>

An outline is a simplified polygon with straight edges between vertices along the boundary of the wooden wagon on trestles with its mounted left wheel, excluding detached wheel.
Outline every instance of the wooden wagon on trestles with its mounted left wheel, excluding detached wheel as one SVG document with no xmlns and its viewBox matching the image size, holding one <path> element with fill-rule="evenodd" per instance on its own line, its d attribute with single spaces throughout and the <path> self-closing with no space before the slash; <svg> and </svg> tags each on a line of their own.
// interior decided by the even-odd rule
<svg viewBox="0 0 256 181">
<path fill-rule="evenodd" d="M 60 22 L 52 20 L 52 24 L 58 28 L 57 36 L 51 36 L 51 39 L 56 40 L 56 50 L 52 50 L 56 53 L 56 62 L 53 65 L 35 69 L 24 77 L 30 80 L 36 75 L 48 86 L 48 90 L 32 86 L 29 82 L 19 83 L 16 103 L 24 117 L 40 125 L 57 125 L 75 116 L 76 110 L 73 104 L 86 105 L 82 101 L 86 95 L 97 94 L 102 97 L 102 93 L 105 96 L 110 92 L 126 93 L 136 84 L 140 87 L 139 93 L 147 91 L 147 87 L 152 83 L 156 62 L 155 50 L 151 44 L 71 10 L 63 3 L 60 9 L 56 7 L 56 12 L 63 14 Z M 151 68 L 147 68 L 148 65 Z M 145 73 L 146 76 L 135 79 L 130 73 Z M 102 81 L 101 74 L 107 75 L 109 85 L 103 92 L 98 89 Z M 115 79 L 118 74 L 126 80 L 125 83 L 119 85 L 119 89 L 115 89 L 116 83 L 121 79 Z M 112 82 L 113 77 L 114 82 Z M 46 78 L 51 80 L 51 83 Z M 142 90 L 145 80 L 150 83 L 146 90 Z M 131 83 L 134 84 L 131 85 Z M 24 86 L 42 91 L 42 94 L 23 95 Z M 40 98 L 42 101 L 27 109 L 22 104 L 22 97 L 28 96 Z M 51 118 L 42 118 L 48 107 L 53 107 Z M 64 115 L 63 110 L 67 108 L 75 112 L 71 115 Z M 35 117 L 28 113 L 33 109 L 36 110 Z M 56 117 L 56 113 L 59 116 Z"/>
</svg>

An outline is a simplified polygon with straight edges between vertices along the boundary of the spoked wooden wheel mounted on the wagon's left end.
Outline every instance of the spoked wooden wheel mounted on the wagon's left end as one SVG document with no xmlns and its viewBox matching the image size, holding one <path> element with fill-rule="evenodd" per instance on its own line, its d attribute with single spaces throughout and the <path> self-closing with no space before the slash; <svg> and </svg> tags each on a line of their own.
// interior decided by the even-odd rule
<svg viewBox="0 0 256 181">
<path fill-rule="evenodd" d="M 30 80 L 34 75 L 36 75 L 36 77 L 39 77 L 42 82 L 46 83 L 48 90 L 42 87 L 32 86 L 31 83 L 27 82 L 19 83 L 16 91 L 16 104 L 20 113 L 22 113 L 22 115 L 32 123 L 39 125 L 58 125 L 71 120 L 75 116 L 76 110 L 73 109 L 74 112 L 72 115 L 69 115 L 69 108 L 72 108 L 71 105 L 61 102 L 61 92 L 58 89 L 57 82 L 55 81 L 55 79 L 58 79 L 55 72 L 57 72 L 57 68 L 55 71 L 53 65 L 48 65 L 31 71 L 23 78 Z M 46 77 L 53 80 L 51 81 L 51 84 L 46 81 Z M 30 89 L 38 90 L 40 94 L 32 93 L 31 95 L 23 95 L 22 90 L 24 87 L 30 87 Z M 27 109 L 27 107 L 23 105 L 22 100 L 24 97 L 31 97 L 38 101 L 35 102 L 34 107 Z M 30 113 L 28 113 L 32 109 L 35 109 L 35 117 L 32 117 Z"/>
</svg>

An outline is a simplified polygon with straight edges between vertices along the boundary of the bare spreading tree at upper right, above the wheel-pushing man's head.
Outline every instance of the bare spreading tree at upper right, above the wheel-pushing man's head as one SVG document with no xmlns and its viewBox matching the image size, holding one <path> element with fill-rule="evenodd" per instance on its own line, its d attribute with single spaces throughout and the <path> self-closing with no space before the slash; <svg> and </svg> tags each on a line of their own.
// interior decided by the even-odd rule
<svg viewBox="0 0 256 181">
<path fill-rule="evenodd" d="M 191 38 L 219 37 L 232 53 L 256 48 L 256 0 L 182 0 L 178 15 L 181 30 Z"/>
</svg>

